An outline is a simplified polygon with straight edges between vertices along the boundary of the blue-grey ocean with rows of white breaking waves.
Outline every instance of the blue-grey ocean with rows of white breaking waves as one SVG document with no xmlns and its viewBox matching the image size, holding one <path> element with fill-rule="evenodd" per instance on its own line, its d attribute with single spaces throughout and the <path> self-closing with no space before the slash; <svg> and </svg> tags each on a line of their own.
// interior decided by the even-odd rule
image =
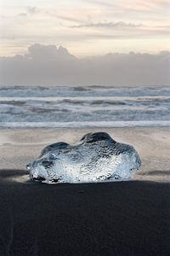
<svg viewBox="0 0 170 256">
<path fill-rule="evenodd" d="M 170 87 L 1 86 L 0 127 L 170 127 Z"/>
</svg>

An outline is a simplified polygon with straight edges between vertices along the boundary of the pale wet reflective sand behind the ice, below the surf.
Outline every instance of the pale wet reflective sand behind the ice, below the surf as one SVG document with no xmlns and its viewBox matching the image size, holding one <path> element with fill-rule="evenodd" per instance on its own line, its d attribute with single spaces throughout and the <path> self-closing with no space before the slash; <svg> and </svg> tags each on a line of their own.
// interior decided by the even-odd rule
<svg viewBox="0 0 170 256">
<path fill-rule="evenodd" d="M 120 143 L 133 145 L 142 166 L 135 180 L 170 182 L 170 128 L 0 128 L 1 169 L 26 170 L 42 148 L 56 142 L 77 143 L 88 132 L 105 131 Z"/>
</svg>

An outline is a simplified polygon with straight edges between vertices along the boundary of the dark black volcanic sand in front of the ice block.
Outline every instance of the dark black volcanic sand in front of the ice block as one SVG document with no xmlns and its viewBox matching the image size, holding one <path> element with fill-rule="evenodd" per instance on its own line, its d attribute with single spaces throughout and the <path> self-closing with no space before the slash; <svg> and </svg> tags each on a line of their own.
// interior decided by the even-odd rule
<svg viewBox="0 0 170 256">
<path fill-rule="evenodd" d="M 42 184 L 0 171 L 0 255 L 170 255 L 170 183 Z"/>
</svg>

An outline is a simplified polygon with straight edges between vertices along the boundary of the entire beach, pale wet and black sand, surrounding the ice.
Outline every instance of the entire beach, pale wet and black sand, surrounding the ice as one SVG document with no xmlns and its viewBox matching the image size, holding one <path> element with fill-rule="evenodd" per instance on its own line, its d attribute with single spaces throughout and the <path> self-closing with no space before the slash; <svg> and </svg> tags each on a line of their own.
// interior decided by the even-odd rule
<svg viewBox="0 0 170 256">
<path fill-rule="evenodd" d="M 0 130 L 1 255 L 169 255 L 170 129 L 102 129 L 139 152 L 133 181 L 42 184 L 26 164 L 99 129 Z"/>
</svg>

